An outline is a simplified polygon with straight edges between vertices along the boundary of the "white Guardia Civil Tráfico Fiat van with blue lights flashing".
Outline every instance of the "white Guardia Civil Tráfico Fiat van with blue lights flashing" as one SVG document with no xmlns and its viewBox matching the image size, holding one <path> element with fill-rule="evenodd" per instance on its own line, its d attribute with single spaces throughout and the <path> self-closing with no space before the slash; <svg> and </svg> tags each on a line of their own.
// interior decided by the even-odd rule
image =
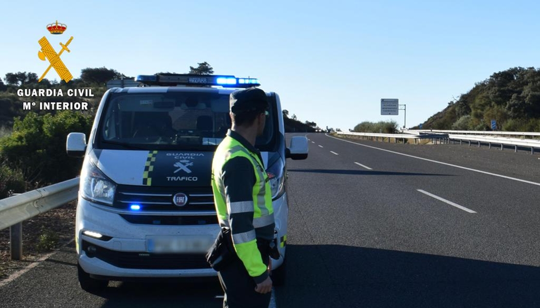
<svg viewBox="0 0 540 308">
<path fill-rule="evenodd" d="M 219 232 L 212 158 L 231 127 L 229 95 L 258 79 L 216 75 L 141 75 L 137 87 L 112 88 L 99 104 L 89 139 L 68 135 L 68 155 L 84 156 L 76 217 L 78 278 L 96 291 L 109 280 L 209 277 L 205 253 Z M 286 159 L 305 159 L 306 137 L 285 144 L 279 96 L 266 93 L 266 126 L 255 146 L 272 189 L 275 284 L 284 282 Z M 86 141 L 87 140 L 87 141 Z"/>
</svg>

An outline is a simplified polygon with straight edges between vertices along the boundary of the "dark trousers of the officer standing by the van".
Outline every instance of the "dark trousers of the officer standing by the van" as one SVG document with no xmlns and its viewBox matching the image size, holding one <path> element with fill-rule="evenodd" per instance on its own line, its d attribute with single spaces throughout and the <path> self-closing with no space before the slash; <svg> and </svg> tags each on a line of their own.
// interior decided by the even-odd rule
<svg viewBox="0 0 540 308">
<path fill-rule="evenodd" d="M 261 248 L 259 248 L 260 250 Z M 268 265 L 268 253 L 261 253 L 261 255 L 262 262 Z M 225 292 L 224 308 L 268 308 L 271 293 L 255 292 L 256 284 L 240 259 L 221 270 L 218 276 Z"/>
</svg>

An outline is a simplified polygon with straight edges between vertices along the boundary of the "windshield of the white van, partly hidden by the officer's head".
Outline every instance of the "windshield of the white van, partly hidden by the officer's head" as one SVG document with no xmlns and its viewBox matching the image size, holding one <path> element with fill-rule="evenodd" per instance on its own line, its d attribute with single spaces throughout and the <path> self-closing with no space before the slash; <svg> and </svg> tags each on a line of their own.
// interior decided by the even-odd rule
<svg viewBox="0 0 540 308">
<path fill-rule="evenodd" d="M 274 148 L 275 103 L 255 146 Z M 100 149 L 214 150 L 231 128 L 229 96 L 211 92 L 110 93 L 100 117 Z"/>
</svg>

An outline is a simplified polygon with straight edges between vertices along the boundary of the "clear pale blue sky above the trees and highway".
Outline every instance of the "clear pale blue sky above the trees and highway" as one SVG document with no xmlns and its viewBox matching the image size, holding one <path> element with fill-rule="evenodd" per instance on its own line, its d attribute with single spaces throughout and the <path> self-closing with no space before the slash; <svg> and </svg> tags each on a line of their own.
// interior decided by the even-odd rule
<svg viewBox="0 0 540 308">
<path fill-rule="evenodd" d="M 105 66 L 128 76 L 187 72 L 257 77 L 300 120 L 347 130 L 407 104 L 417 125 L 493 72 L 540 66 L 540 2 L 528 1 L 12 1 L 2 4 L 0 77 L 41 75 L 37 40 L 74 39 L 73 76 Z M 68 25 L 52 36 L 45 26 Z M 47 76 L 54 79 L 56 72 Z"/>
</svg>

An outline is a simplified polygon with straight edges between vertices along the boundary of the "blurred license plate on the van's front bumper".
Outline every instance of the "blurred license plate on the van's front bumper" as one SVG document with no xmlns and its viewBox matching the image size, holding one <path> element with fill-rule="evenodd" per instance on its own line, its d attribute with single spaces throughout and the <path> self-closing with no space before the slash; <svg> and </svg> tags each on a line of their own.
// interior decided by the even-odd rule
<svg viewBox="0 0 540 308">
<path fill-rule="evenodd" d="M 205 236 L 149 236 L 146 249 L 154 253 L 206 253 L 214 239 Z"/>
</svg>

